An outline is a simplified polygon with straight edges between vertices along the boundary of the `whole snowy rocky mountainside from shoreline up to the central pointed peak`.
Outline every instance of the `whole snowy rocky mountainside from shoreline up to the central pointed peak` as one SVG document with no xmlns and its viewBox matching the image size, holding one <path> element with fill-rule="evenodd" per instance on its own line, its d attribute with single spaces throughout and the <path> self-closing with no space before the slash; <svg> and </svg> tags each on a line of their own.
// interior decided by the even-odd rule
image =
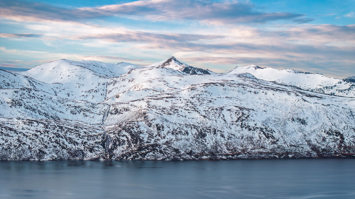
<svg viewBox="0 0 355 199">
<path fill-rule="evenodd" d="M 143 67 L 59 60 L 1 70 L 0 159 L 355 157 L 354 94 L 233 71 L 214 74 L 175 57 Z M 309 75 L 289 77 L 297 74 Z"/>
</svg>

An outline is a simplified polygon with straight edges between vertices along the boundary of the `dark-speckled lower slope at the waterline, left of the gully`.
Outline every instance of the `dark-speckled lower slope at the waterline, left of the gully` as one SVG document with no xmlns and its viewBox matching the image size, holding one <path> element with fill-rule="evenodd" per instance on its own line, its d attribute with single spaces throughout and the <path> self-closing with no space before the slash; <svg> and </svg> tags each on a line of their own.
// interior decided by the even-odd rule
<svg viewBox="0 0 355 199">
<path fill-rule="evenodd" d="M 104 133 L 75 120 L 0 118 L 0 160 L 99 159 Z"/>
</svg>

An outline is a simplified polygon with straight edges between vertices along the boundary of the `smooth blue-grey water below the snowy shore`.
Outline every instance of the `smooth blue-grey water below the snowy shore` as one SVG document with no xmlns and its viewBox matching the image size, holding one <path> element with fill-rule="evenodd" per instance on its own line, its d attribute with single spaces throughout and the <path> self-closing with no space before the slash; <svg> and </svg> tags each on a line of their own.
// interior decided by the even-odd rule
<svg viewBox="0 0 355 199">
<path fill-rule="evenodd" d="M 0 198 L 355 198 L 355 159 L 0 161 Z"/>
</svg>

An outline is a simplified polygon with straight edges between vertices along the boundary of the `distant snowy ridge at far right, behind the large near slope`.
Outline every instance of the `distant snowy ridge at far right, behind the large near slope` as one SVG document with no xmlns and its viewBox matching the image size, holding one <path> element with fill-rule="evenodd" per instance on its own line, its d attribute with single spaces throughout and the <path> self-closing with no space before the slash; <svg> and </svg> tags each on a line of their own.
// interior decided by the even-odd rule
<svg viewBox="0 0 355 199">
<path fill-rule="evenodd" d="M 236 67 L 227 74 L 250 73 L 258 79 L 275 81 L 300 87 L 301 89 L 330 95 L 355 97 L 355 77 L 331 78 L 318 73 L 304 73 L 299 70 L 261 68 L 255 65 Z"/>
</svg>

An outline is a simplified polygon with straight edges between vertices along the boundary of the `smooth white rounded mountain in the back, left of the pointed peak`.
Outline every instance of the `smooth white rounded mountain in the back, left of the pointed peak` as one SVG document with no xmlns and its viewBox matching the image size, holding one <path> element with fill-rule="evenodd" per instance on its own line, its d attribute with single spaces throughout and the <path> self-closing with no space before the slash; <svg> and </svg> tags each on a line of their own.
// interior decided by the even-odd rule
<svg viewBox="0 0 355 199">
<path fill-rule="evenodd" d="M 98 103 L 105 99 L 107 79 L 137 67 L 125 62 L 108 64 L 61 59 L 17 74 L 50 84 L 55 95 L 60 97 Z"/>
</svg>

